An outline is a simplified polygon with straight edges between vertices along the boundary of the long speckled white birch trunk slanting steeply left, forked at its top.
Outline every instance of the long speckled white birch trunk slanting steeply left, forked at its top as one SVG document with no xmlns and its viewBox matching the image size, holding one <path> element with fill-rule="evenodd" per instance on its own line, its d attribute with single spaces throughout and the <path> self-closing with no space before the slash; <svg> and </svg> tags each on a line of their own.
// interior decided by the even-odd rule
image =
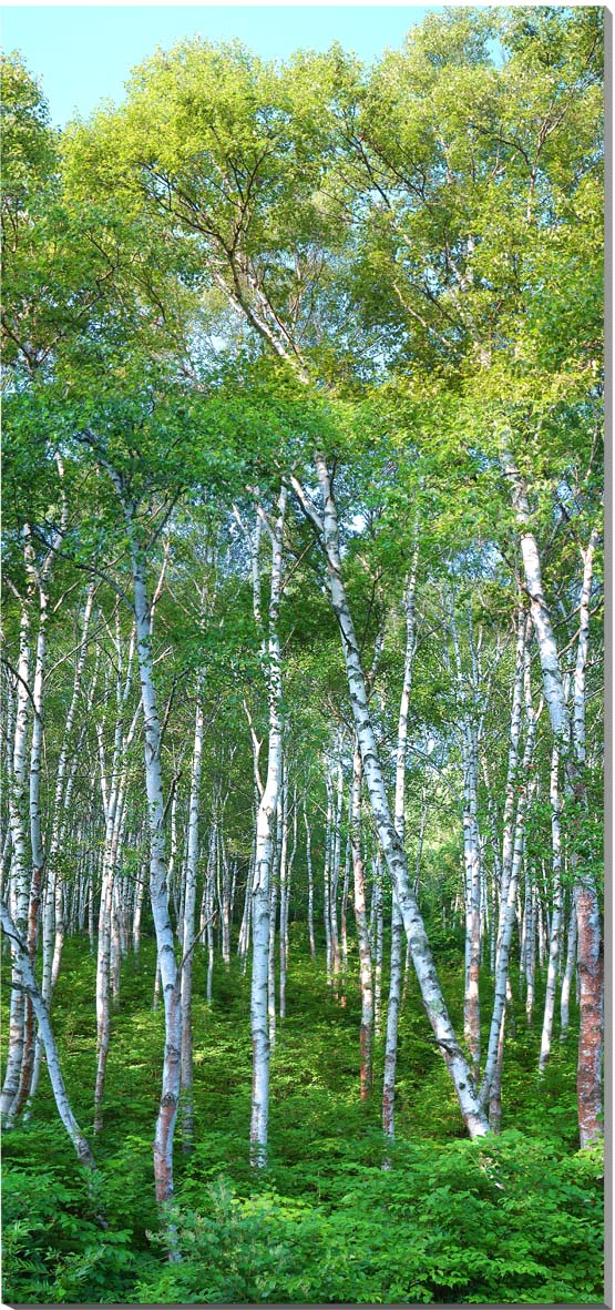
<svg viewBox="0 0 615 1310">
<path fill-rule="evenodd" d="M 327 558 L 330 599 L 342 634 L 349 698 L 365 770 L 372 814 L 398 899 L 403 925 L 411 942 L 412 963 L 415 965 L 421 989 L 423 1002 L 432 1024 L 436 1043 L 442 1051 L 446 1068 L 450 1073 L 463 1121 L 470 1136 L 478 1137 L 488 1132 L 488 1123 L 478 1099 L 468 1062 L 459 1045 L 457 1034 L 446 1010 L 446 1003 L 425 933 L 425 925 L 411 887 L 406 852 L 399 841 L 389 808 L 385 777 L 379 761 L 372 717 L 369 713 L 368 690 L 361 665 L 359 642 L 343 582 L 338 511 L 332 495 L 327 465 L 325 457 L 321 455 L 317 456 L 317 472 L 325 506 L 322 519 L 313 504 L 308 500 L 301 483 L 293 478 L 292 485 L 300 498 L 304 511 L 317 528 L 318 540 Z"/>
</svg>

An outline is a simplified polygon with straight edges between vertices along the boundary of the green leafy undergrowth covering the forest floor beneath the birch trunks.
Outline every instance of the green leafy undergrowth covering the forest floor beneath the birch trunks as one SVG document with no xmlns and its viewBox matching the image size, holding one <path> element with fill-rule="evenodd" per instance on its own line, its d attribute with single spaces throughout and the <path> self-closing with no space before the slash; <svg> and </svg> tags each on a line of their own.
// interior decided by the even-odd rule
<svg viewBox="0 0 615 1310">
<path fill-rule="evenodd" d="M 459 976 L 440 972 L 459 1022 Z M 268 1167 L 250 1167 L 249 980 L 195 965 L 195 1146 L 175 1149 L 169 1264 L 152 1184 L 164 1041 L 153 943 L 124 962 L 98 1175 L 86 1184 L 42 1078 L 33 1117 L 4 1136 L 4 1300 L 55 1302 L 519 1302 L 603 1300 L 602 1163 L 577 1150 L 576 1034 L 536 1078 L 539 1019 L 508 1036 L 504 1132 L 470 1142 L 410 980 L 393 1151 L 376 1091 L 357 1094 L 356 963 L 342 1006 L 297 937 L 272 1057 Z M 483 994 L 489 994 L 483 980 Z M 69 942 L 54 1017 L 75 1112 L 92 1137 L 94 962 Z M 487 1003 L 484 1043 L 487 1041 Z M 536 1010 L 539 1015 L 539 1010 Z M 7 1027 L 4 1027 L 7 1031 Z M 105 1205 L 109 1227 L 94 1213 Z"/>
</svg>

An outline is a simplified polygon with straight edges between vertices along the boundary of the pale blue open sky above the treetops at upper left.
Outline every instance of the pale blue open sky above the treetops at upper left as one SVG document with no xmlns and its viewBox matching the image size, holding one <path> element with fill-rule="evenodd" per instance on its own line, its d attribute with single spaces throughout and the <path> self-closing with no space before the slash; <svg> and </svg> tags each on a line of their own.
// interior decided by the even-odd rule
<svg viewBox="0 0 615 1310">
<path fill-rule="evenodd" d="M 122 100 L 136 64 L 182 37 L 238 37 L 256 54 L 287 58 L 339 41 L 369 62 L 400 45 L 429 8 L 419 5 L 3 5 L 3 48 L 20 50 L 42 79 L 54 123 Z"/>
</svg>

